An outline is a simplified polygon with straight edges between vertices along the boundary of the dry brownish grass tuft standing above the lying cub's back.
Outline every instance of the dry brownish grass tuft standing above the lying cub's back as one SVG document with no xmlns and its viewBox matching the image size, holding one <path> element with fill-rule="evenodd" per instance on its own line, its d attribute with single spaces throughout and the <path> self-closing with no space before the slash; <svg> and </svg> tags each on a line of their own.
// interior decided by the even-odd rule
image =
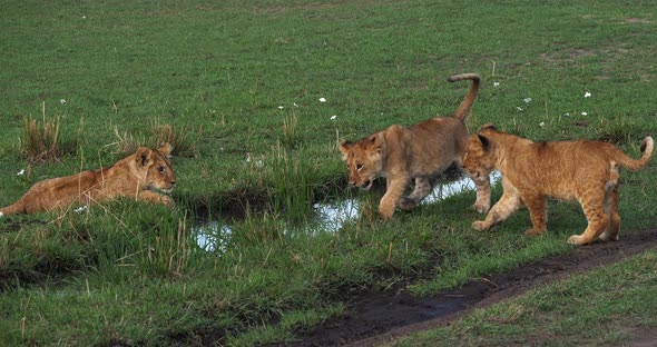
<svg viewBox="0 0 657 347">
<path fill-rule="evenodd" d="M 46 117 L 46 103 L 41 103 L 41 122 L 31 117 L 24 119 L 22 138 L 19 140 L 19 151 L 30 163 L 59 161 L 59 126 L 60 118 Z"/>
</svg>

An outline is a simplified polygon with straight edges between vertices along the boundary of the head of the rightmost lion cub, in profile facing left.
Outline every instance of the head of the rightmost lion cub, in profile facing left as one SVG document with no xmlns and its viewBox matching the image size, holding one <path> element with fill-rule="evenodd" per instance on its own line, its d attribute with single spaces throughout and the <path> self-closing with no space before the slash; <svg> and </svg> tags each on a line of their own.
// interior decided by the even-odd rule
<svg viewBox="0 0 657 347">
<path fill-rule="evenodd" d="M 465 145 L 463 169 L 473 179 L 488 177 L 494 169 L 496 155 L 492 143 L 484 136 L 486 130 L 494 131 L 494 127 L 492 125 L 482 126 L 479 133 L 471 135 L 468 138 L 468 143 Z"/>
</svg>

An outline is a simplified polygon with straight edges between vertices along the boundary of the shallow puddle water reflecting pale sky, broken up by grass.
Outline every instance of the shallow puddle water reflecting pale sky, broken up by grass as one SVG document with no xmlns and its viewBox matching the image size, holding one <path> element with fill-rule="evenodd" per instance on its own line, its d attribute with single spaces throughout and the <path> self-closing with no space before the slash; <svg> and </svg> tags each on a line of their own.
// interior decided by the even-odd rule
<svg viewBox="0 0 657 347">
<path fill-rule="evenodd" d="M 497 171 L 491 174 L 491 185 L 497 184 L 501 179 L 501 175 Z M 455 181 L 438 184 L 433 191 L 422 201 L 422 204 L 434 204 L 444 200 L 449 197 L 455 196 L 463 191 L 474 191 L 475 187 L 471 179 L 462 177 Z M 343 225 L 356 220 L 360 216 L 359 201 L 355 199 L 346 199 L 337 202 L 324 202 L 313 205 L 313 215 L 315 218 L 307 222 L 303 228 L 286 228 L 288 232 L 292 230 L 302 231 L 305 229 L 336 232 Z M 198 247 L 207 251 L 225 252 L 226 245 L 231 240 L 233 229 L 229 225 L 213 220 L 202 222 L 194 228 L 196 235 L 196 242 Z"/>
</svg>

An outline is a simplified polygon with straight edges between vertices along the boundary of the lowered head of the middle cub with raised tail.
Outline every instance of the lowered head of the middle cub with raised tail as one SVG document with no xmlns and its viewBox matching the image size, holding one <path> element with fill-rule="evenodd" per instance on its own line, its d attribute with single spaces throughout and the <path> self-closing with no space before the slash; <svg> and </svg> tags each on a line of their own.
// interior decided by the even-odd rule
<svg viewBox="0 0 657 347">
<path fill-rule="evenodd" d="M 340 151 L 349 169 L 349 184 L 370 189 L 383 168 L 383 136 L 374 133 L 357 142 L 342 140 Z"/>
</svg>

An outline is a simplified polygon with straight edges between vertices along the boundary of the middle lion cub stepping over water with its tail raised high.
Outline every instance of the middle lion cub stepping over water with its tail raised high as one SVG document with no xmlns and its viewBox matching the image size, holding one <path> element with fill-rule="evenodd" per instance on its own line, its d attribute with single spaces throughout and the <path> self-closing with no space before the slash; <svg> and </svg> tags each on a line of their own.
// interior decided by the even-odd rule
<svg viewBox="0 0 657 347">
<path fill-rule="evenodd" d="M 453 117 L 435 117 L 408 128 L 392 126 L 359 141 L 341 141 L 340 150 L 349 169 L 349 182 L 362 189 L 370 189 L 376 176 L 386 178 L 388 190 L 379 204 L 383 219 L 392 218 L 399 206 L 410 210 L 418 206 L 431 191 L 430 177 L 444 171 L 452 163 L 461 165 L 468 130 L 464 119 L 479 90 L 477 73 L 452 76 L 450 82 L 472 80 L 468 96 Z M 411 179 L 415 188 L 402 198 Z M 490 207 L 490 181 L 488 176 L 474 180 L 477 201 L 473 207 L 486 212 Z"/>
</svg>

